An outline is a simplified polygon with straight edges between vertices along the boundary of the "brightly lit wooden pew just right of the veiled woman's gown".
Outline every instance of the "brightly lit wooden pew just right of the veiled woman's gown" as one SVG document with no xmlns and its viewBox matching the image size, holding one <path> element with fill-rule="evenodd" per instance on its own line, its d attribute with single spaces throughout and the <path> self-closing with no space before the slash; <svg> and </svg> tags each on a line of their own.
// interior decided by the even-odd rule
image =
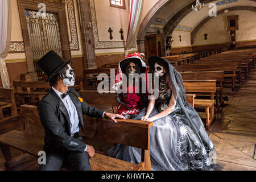
<svg viewBox="0 0 256 182">
<path fill-rule="evenodd" d="M 217 80 L 184 80 L 186 92 L 210 94 L 210 100 L 195 99 L 195 107 L 205 108 L 207 130 L 215 119 L 214 93 L 216 93 L 216 81 Z"/>
</svg>

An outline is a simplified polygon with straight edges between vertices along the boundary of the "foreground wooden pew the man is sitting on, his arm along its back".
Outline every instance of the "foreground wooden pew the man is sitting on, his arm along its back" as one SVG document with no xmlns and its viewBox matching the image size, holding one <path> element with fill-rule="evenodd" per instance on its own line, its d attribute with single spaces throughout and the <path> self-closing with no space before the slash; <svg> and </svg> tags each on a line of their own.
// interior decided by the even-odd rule
<svg viewBox="0 0 256 182">
<path fill-rule="evenodd" d="M 13 130 L 0 135 L 0 147 L 5 157 L 6 169 L 11 169 L 27 155 L 38 158 L 43 150 L 44 130 L 36 106 L 20 106 L 20 121 L 24 122 L 24 131 Z M 117 123 L 109 119 L 91 118 L 84 115 L 84 137 L 105 140 L 142 149 L 142 162 L 133 164 L 123 160 L 96 154 L 90 158 L 93 171 L 140 171 L 151 170 L 150 163 L 150 127 L 153 122 L 138 122 L 131 119 L 117 119 Z M 122 131 L 122 132 L 120 132 Z M 25 154 L 11 158 L 10 147 L 23 151 Z"/>
</svg>

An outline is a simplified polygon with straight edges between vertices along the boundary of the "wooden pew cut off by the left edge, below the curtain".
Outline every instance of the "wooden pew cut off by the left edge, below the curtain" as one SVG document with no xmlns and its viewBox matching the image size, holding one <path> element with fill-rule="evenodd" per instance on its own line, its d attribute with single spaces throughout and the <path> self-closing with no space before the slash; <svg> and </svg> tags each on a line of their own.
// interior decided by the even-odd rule
<svg viewBox="0 0 256 182">
<path fill-rule="evenodd" d="M 14 89 L 13 88 L 0 88 L 0 122 L 5 122 L 9 119 L 18 117 L 18 111 L 16 108 Z M 5 117 L 3 115 L 3 109 L 10 107 L 11 115 L 9 117 Z"/>
</svg>

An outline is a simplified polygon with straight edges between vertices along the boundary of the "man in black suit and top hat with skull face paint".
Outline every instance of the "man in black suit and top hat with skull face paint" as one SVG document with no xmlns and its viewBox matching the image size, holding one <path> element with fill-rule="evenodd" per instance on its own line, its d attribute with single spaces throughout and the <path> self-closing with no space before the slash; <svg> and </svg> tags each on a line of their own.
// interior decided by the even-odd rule
<svg viewBox="0 0 256 182">
<path fill-rule="evenodd" d="M 90 170 L 89 157 L 94 148 L 82 142 L 79 127 L 84 130 L 82 115 L 90 117 L 125 119 L 122 115 L 106 113 L 89 106 L 75 89 L 75 74 L 69 61 L 64 61 L 54 51 L 48 52 L 39 61 L 39 67 L 46 73 L 52 89 L 39 102 L 38 111 L 45 130 L 44 151 L 46 164 L 42 171 L 60 170 L 64 162 L 75 170 Z"/>
</svg>

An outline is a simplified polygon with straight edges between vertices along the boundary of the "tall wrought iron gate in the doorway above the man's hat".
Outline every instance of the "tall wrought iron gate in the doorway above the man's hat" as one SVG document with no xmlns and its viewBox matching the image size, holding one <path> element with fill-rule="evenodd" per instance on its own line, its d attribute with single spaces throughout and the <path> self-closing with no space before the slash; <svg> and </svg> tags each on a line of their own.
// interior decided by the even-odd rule
<svg viewBox="0 0 256 182">
<path fill-rule="evenodd" d="M 34 67 L 40 79 L 45 73 L 38 67 L 36 62 L 51 50 L 62 57 L 57 14 L 46 13 L 46 16 L 39 16 L 38 11 L 32 10 L 26 10 L 25 13 Z"/>
</svg>

